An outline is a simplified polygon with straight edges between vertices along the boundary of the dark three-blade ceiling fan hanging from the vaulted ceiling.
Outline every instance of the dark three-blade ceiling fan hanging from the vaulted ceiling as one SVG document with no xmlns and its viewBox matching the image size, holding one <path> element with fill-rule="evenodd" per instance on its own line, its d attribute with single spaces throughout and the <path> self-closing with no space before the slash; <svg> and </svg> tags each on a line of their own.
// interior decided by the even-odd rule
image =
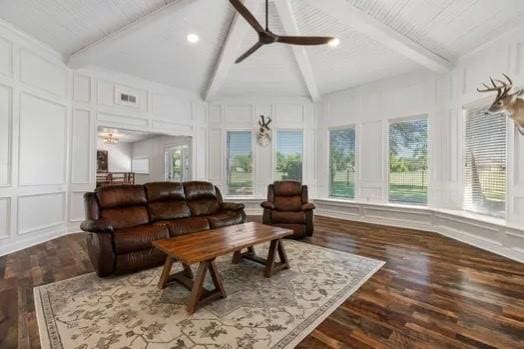
<svg viewBox="0 0 524 349">
<path fill-rule="evenodd" d="M 269 30 L 269 0 L 266 0 L 266 28 L 262 27 L 258 23 L 257 19 L 249 10 L 242 4 L 240 0 L 229 0 L 231 5 L 240 13 L 242 17 L 255 29 L 258 33 L 258 42 L 253 45 L 249 50 L 247 50 L 242 56 L 240 56 L 235 63 L 240 63 L 245 60 L 247 57 L 251 56 L 255 51 L 261 48 L 264 45 L 270 45 L 275 42 L 288 45 L 303 45 L 303 46 L 313 46 L 313 45 L 325 45 L 328 44 L 336 38 L 329 36 L 283 36 L 274 34 Z"/>
</svg>

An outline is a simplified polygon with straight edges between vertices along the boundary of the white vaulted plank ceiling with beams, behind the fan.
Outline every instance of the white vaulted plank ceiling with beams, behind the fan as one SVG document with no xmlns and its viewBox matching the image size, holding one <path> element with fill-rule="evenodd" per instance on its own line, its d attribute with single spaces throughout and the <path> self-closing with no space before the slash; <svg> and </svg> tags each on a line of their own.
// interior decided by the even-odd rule
<svg viewBox="0 0 524 349">
<path fill-rule="evenodd" d="M 244 0 L 262 22 L 263 0 Z M 337 48 L 257 40 L 227 0 L 0 0 L 0 18 L 47 43 L 73 68 L 99 66 L 204 98 L 310 96 L 461 55 L 524 22 L 522 0 L 271 0 L 270 28 L 331 35 Z M 186 40 L 200 36 L 198 44 Z"/>
</svg>

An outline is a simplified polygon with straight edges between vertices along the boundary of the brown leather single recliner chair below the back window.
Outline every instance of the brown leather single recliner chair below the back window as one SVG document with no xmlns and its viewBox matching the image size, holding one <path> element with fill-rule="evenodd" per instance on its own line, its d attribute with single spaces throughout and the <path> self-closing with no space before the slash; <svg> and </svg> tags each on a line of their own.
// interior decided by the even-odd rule
<svg viewBox="0 0 524 349">
<path fill-rule="evenodd" d="M 313 210 L 308 202 L 306 185 L 296 181 L 278 181 L 268 186 L 267 201 L 262 218 L 264 224 L 292 229 L 291 237 L 302 238 L 313 235 Z"/>
</svg>

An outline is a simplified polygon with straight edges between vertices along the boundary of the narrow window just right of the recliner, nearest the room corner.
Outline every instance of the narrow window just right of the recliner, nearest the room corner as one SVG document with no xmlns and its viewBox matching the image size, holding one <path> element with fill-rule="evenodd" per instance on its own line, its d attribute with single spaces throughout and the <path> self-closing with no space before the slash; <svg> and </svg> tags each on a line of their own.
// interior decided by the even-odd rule
<svg viewBox="0 0 524 349">
<path fill-rule="evenodd" d="M 329 195 L 355 197 L 355 129 L 329 132 Z"/>
</svg>

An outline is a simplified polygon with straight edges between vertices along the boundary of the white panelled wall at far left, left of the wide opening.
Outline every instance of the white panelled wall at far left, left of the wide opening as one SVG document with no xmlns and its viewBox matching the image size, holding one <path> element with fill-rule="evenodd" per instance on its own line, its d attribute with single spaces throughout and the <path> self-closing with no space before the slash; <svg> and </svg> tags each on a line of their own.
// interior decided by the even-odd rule
<svg viewBox="0 0 524 349">
<path fill-rule="evenodd" d="M 0 255 L 65 231 L 70 72 L 0 22 Z"/>
</svg>

